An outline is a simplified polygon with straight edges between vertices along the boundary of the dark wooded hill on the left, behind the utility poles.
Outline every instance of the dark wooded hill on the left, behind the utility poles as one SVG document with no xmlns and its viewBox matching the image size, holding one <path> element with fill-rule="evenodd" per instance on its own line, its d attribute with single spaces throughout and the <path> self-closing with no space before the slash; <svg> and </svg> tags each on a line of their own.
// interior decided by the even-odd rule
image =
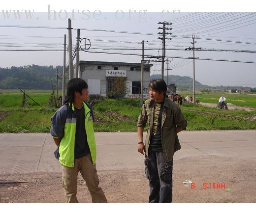
<svg viewBox="0 0 256 216">
<path fill-rule="evenodd" d="M 0 68 L 0 89 L 52 89 L 56 82 L 56 70 L 62 66 L 28 65 L 24 67 Z M 61 87 L 61 85 L 60 85 Z"/>
</svg>

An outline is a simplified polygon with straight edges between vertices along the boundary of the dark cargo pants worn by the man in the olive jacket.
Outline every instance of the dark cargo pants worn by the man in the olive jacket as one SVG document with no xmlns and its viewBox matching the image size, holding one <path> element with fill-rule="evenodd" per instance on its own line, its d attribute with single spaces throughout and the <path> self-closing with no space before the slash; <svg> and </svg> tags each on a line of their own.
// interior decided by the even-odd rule
<svg viewBox="0 0 256 216">
<path fill-rule="evenodd" d="M 150 151 L 144 163 L 149 180 L 149 203 L 171 203 L 173 160 L 165 162 L 162 152 Z"/>
</svg>

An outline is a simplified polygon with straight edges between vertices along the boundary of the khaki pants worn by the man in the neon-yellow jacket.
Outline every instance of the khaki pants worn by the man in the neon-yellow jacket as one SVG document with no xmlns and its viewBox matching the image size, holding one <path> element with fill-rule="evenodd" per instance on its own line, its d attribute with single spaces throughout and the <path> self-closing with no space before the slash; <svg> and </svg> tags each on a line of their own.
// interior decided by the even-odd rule
<svg viewBox="0 0 256 216">
<path fill-rule="evenodd" d="M 62 185 L 66 203 L 78 203 L 76 198 L 78 171 L 86 182 L 93 203 L 107 203 L 103 190 L 98 187 L 97 170 L 93 165 L 91 154 L 75 159 L 74 167 L 62 165 Z"/>
</svg>

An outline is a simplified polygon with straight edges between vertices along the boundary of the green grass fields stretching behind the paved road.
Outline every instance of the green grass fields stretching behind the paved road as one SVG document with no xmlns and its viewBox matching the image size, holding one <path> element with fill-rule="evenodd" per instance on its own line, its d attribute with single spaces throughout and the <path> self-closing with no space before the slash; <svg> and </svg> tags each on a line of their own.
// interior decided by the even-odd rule
<svg viewBox="0 0 256 216">
<path fill-rule="evenodd" d="M 9 114 L 0 120 L 0 133 L 17 132 L 49 132 L 51 128 L 51 116 L 57 108 L 45 107 L 51 91 L 28 90 L 26 93 L 32 97 L 39 107 L 30 99 L 30 108 L 20 108 L 23 94 L 19 90 L 0 91 L 0 111 Z M 185 95 L 185 94 L 184 94 Z M 216 103 L 220 96 L 227 99 L 227 103 L 239 106 L 250 106 L 256 108 L 254 94 L 196 94 L 201 102 Z M 202 99 L 201 99 L 202 98 Z M 228 101 L 235 100 L 235 101 Z M 241 102 L 244 101 L 244 102 Z M 104 99 L 96 100 L 93 108 L 96 117 L 94 128 L 96 132 L 117 132 L 136 131 L 136 120 L 140 112 L 139 99 Z M 241 104 L 239 104 L 241 103 Z M 242 105 L 243 104 L 243 105 Z M 249 120 L 229 119 L 216 114 L 241 116 L 243 118 L 252 117 L 254 111 L 245 110 L 220 110 L 216 108 L 201 107 L 193 104 L 181 106 L 183 114 L 188 121 L 187 130 L 236 130 L 236 129 L 256 129 L 256 122 Z M 200 114 L 190 110 L 200 112 L 210 112 L 212 114 Z M 147 129 L 147 126 L 145 130 Z"/>
</svg>

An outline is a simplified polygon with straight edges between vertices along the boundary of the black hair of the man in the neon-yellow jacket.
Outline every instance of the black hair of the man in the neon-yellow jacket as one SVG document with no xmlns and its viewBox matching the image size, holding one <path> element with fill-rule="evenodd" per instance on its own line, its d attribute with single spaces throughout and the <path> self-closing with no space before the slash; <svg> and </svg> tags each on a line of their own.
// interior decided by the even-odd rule
<svg viewBox="0 0 256 216">
<path fill-rule="evenodd" d="M 86 81 L 84 81 L 81 78 L 74 78 L 68 81 L 66 86 L 66 98 L 65 98 L 64 104 L 65 103 L 72 104 L 75 99 L 75 91 L 78 91 L 82 94 L 82 90 L 84 88 L 87 89 L 88 84 Z"/>
</svg>

